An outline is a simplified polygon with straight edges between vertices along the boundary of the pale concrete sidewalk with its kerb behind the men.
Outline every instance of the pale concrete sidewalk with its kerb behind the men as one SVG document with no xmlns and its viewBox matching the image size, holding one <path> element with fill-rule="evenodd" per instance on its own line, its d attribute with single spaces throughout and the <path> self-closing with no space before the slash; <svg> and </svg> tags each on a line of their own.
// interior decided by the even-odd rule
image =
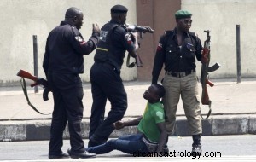
<svg viewBox="0 0 256 162">
<path fill-rule="evenodd" d="M 212 100 L 212 115 L 203 119 L 203 135 L 239 135 L 256 134 L 256 78 L 242 79 L 240 84 L 236 79 L 212 80 L 214 87 L 207 87 Z M 26 80 L 26 84 L 30 84 Z M 148 89 L 149 82 L 125 82 L 128 95 L 128 109 L 124 119 L 131 119 L 143 114 L 146 101 L 143 92 Z M 201 86 L 201 84 L 200 84 Z M 200 87 L 201 88 L 201 87 Z M 49 101 L 43 101 L 43 90 L 37 94 L 27 87 L 30 101 L 42 113 L 51 113 L 53 99 L 49 93 Z M 90 84 L 84 84 L 84 119 L 82 123 L 83 136 L 88 137 L 90 107 L 92 104 Z M 0 141 L 48 140 L 51 115 L 36 113 L 26 103 L 26 98 L 20 86 L 0 88 Z M 107 104 L 106 114 L 110 109 Z M 205 117 L 207 106 L 202 106 Z M 136 127 L 114 131 L 111 137 L 136 132 Z M 189 136 L 183 105 L 177 108 L 177 124 L 175 135 Z M 66 130 L 64 138 L 68 138 Z"/>
</svg>

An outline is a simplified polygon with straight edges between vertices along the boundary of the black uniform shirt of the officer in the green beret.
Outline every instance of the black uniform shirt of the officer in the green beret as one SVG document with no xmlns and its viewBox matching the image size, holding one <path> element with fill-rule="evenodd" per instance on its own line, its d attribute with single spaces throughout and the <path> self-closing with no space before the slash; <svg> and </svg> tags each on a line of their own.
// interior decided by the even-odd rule
<svg viewBox="0 0 256 162">
<path fill-rule="evenodd" d="M 160 37 L 154 58 L 153 84 L 157 83 L 163 64 L 166 72 L 191 72 L 196 67 L 195 56 L 201 61 L 201 40 L 195 32 L 184 32 L 181 46 L 178 46 L 176 34 L 177 28 Z"/>
</svg>

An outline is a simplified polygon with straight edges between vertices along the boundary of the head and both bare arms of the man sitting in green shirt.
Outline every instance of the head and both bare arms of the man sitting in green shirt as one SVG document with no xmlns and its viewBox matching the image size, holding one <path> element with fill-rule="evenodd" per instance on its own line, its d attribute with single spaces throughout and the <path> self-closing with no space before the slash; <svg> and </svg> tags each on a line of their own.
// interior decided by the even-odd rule
<svg viewBox="0 0 256 162">
<path fill-rule="evenodd" d="M 143 97 L 144 99 L 148 100 L 149 103 L 156 103 L 160 101 L 160 96 L 156 95 L 157 93 L 157 88 L 154 85 L 151 85 L 148 90 L 145 91 Z M 115 129 L 119 130 L 124 128 L 125 126 L 135 126 L 138 125 L 139 122 L 143 119 L 143 116 L 138 117 L 137 119 L 133 120 L 128 120 L 128 121 L 117 121 L 113 123 L 113 126 Z M 166 124 L 165 122 L 158 123 L 157 124 L 158 129 L 160 130 L 160 138 L 159 138 L 159 143 L 158 143 L 158 148 L 157 152 L 163 152 L 163 148 L 166 144 L 166 139 L 167 139 L 167 132 L 166 132 Z"/>
</svg>

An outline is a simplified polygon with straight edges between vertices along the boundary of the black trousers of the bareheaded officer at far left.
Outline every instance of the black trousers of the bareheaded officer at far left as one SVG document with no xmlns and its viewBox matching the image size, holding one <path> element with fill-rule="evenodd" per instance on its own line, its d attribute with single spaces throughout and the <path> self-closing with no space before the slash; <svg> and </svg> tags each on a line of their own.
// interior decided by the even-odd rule
<svg viewBox="0 0 256 162">
<path fill-rule="evenodd" d="M 48 81 L 54 97 L 49 154 L 61 153 L 62 136 L 67 121 L 71 148 L 73 151 L 80 152 L 84 150 L 81 135 L 84 92 L 81 78 L 77 74 L 49 73 Z"/>
</svg>

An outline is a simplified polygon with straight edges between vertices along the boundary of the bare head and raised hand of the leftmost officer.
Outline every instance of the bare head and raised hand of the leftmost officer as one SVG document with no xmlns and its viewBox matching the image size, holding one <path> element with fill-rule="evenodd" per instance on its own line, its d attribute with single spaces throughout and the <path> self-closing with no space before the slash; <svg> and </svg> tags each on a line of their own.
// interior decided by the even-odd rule
<svg viewBox="0 0 256 162">
<path fill-rule="evenodd" d="M 79 30 L 81 26 L 83 26 L 84 14 L 79 9 L 70 9 L 68 13 L 68 17 L 65 18 L 65 21 Z M 100 33 L 101 29 L 97 25 L 97 23 L 92 24 L 93 32 Z"/>
</svg>

